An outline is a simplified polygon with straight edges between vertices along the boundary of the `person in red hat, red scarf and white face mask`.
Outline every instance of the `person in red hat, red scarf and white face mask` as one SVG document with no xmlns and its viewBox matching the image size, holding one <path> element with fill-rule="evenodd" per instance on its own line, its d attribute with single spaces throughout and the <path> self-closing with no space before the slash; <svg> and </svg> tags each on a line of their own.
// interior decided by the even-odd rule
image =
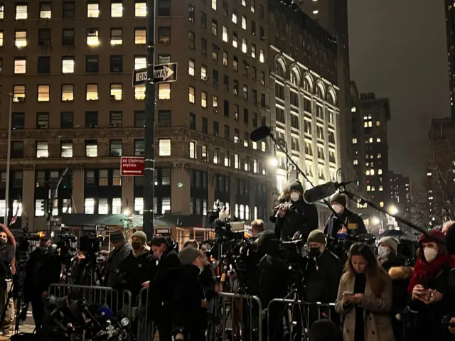
<svg viewBox="0 0 455 341">
<path fill-rule="evenodd" d="M 414 340 L 454 340 L 442 325 L 443 316 L 455 306 L 455 264 L 444 239 L 444 233 L 437 229 L 419 237 L 417 263 L 407 288 L 410 308 L 418 312 L 410 332 Z"/>
</svg>

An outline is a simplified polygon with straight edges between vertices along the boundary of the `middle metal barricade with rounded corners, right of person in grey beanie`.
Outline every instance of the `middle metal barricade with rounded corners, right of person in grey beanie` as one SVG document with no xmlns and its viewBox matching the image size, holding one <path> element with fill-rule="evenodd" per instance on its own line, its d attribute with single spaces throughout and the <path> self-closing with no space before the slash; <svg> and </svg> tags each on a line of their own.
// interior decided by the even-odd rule
<svg viewBox="0 0 455 341">
<path fill-rule="evenodd" d="M 208 341 L 262 341 L 262 304 L 257 296 L 219 293 L 210 303 Z"/>
</svg>

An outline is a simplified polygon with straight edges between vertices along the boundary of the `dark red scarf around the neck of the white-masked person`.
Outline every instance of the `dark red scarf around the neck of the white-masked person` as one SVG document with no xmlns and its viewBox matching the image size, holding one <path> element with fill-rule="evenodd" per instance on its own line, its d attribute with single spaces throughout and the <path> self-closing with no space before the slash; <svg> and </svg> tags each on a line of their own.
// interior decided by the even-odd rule
<svg viewBox="0 0 455 341">
<path fill-rule="evenodd" d="M 417 259 L 414 266 L 414 274 L 412 275 L 410 285 L 407 287 L 407 293 L 411 296 L 412 289 L 417 284 L 426 286 L 428 281 L 434 278 L 444 266 L 449 266 L 450 269 L 455 268 L 455 259 L 448 254 L 441 254 L 431 263 Z"/>
</svg>

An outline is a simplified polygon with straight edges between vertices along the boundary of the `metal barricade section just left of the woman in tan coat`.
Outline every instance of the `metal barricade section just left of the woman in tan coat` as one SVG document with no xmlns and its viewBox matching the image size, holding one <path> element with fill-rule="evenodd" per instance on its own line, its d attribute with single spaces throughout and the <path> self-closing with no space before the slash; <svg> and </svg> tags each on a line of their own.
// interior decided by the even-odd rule
<svg viewBox="0 0 455 341">
<path fill-rule="evenodd" d="M 311 325 L 321 318 L 340 324 L 335 303 L 276 298 L 267 306 L 267 340 L 309 340 Z"/>
</svg>

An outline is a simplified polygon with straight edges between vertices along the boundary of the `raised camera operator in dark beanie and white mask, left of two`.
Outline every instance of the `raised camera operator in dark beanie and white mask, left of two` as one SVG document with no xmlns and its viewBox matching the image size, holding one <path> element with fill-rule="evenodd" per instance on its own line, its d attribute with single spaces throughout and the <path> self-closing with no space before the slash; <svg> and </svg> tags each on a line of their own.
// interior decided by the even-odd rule
<svg viewBox="0 0 455 341">
<path fill-rule="evenodd" d="M 316 205 L 304 201 L 304 187 L 299 180 L 289 185 L 289 193 L 291 205 L 287 203 L 279 208 L 275 236 L 290 239 L 300 232 L 306 239 L 311 231 L 318 228 L 318 210 Z"/>
</svg>

